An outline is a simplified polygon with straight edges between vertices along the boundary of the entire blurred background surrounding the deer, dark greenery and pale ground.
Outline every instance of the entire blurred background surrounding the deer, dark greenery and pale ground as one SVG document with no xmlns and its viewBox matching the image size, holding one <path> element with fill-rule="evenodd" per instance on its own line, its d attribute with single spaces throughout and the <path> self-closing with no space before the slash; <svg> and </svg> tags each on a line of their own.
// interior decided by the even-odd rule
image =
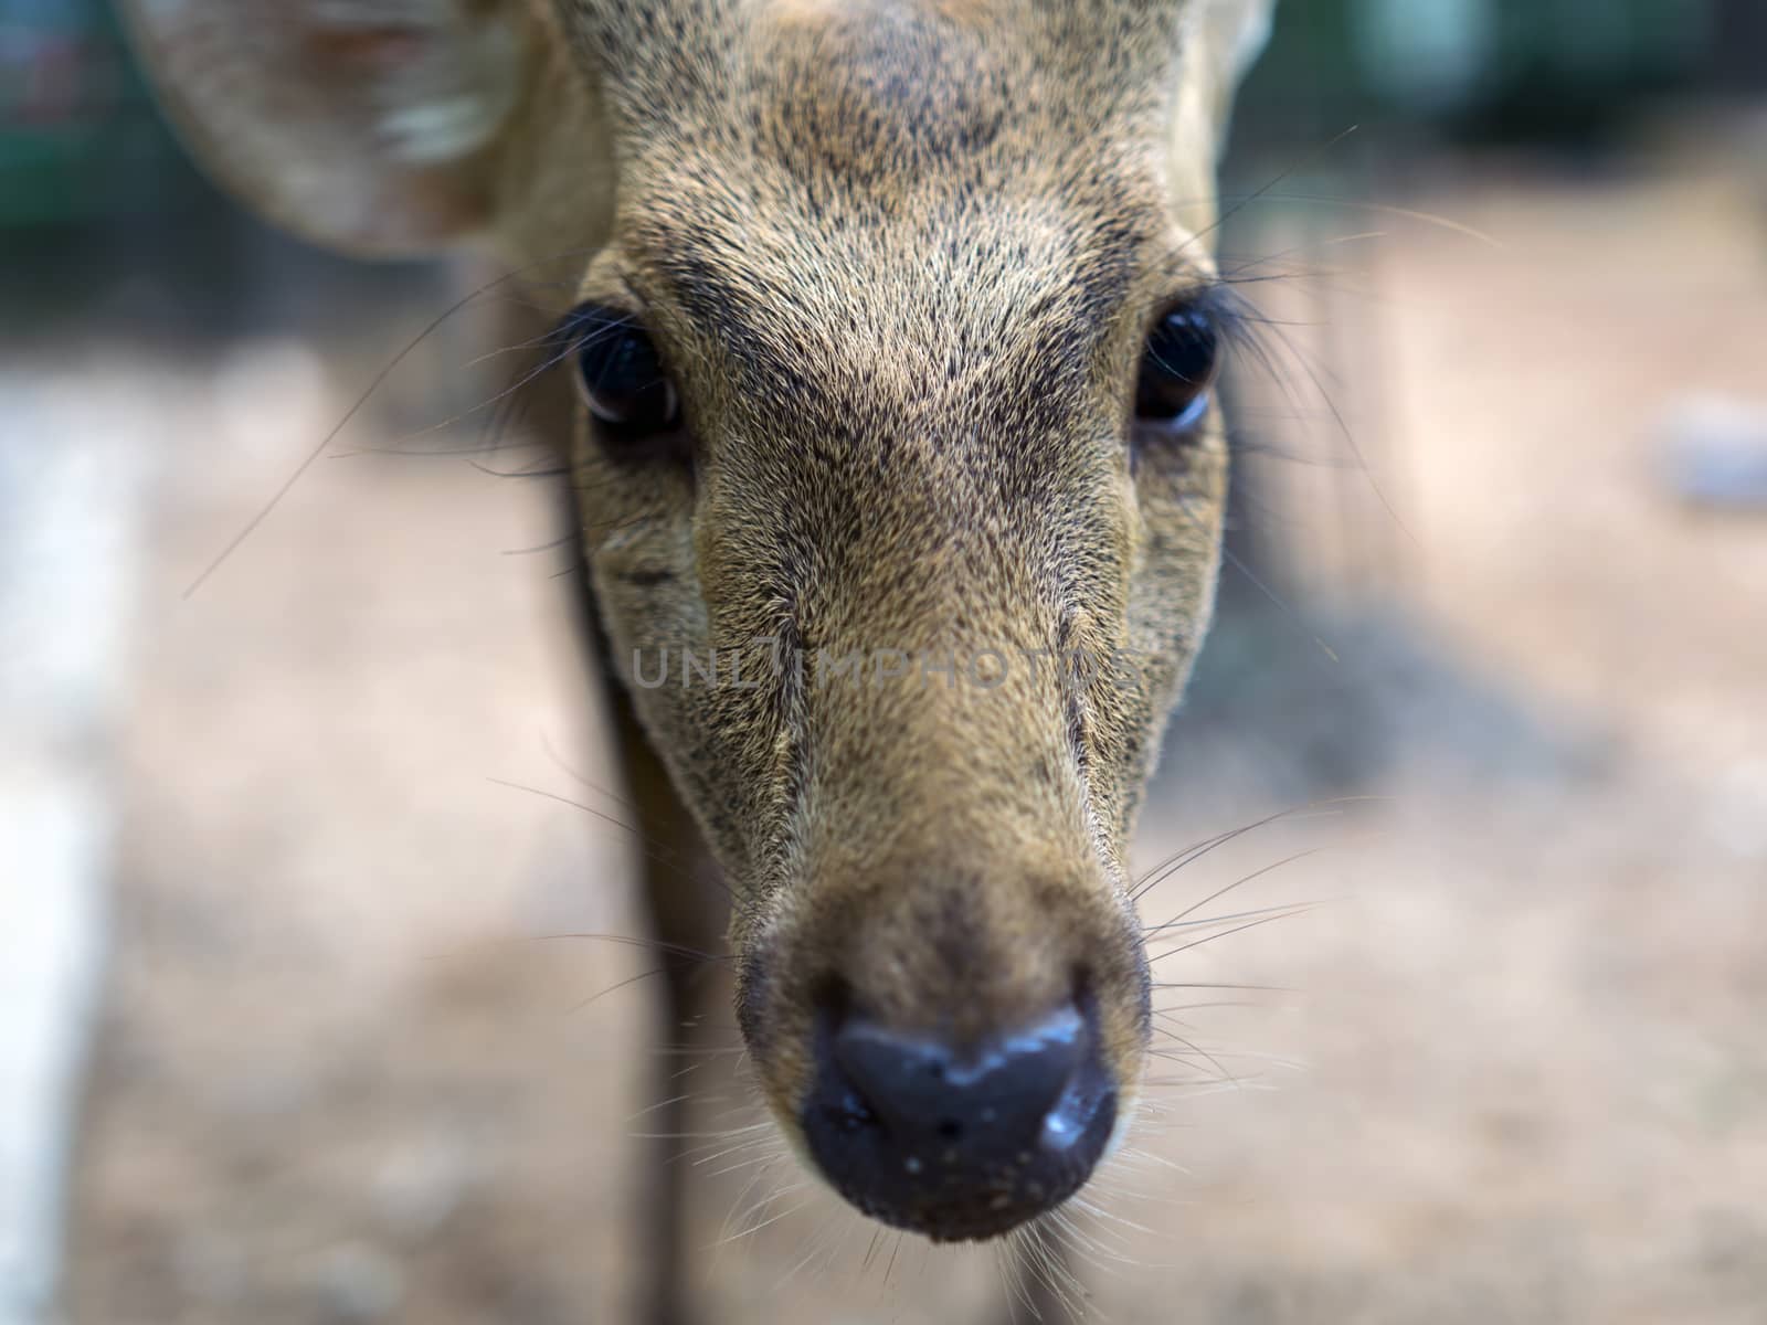
<svg viewBox="0 0 1767 1325">
<path fill-rule="evenodd" d="M 1248 830 L 1145 906 L 1210 924 L 1097 1318 L 1760 1325 L 1767 5 L 1288 0 L 1225 203 L 1230 564 L 1138 859 Z M 102 5 L 0 0 L 4 1325 L 627 1318 L 677 1034 L 569 938 L 640 933 L 633 857 L 534 793 L 617 813 L 495 300 L 186 595 L 482 279 L 263 228 Z M 709 1320 L 986 1316 L 682 1081 Z"/>
</svg>

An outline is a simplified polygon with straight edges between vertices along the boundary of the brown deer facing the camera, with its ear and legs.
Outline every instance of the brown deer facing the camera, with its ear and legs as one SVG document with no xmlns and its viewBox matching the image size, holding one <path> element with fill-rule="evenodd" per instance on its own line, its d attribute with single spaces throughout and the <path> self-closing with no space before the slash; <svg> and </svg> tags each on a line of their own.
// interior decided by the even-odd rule
<svg viewBox="0 0 1767 1325">
<path fill-rule="evenodd" d="M 270 221 L 567 272 L 535 428 L 638 827 L 707 862 L 647 857 L 652 936 L 728 945 L 777 1132 L 935 1242 L 1058 1210 L 1141 1099 L 1127 852 L 1214 606 L 1216 170 L 1272 4 L 124 5 Z"/>
</svg>

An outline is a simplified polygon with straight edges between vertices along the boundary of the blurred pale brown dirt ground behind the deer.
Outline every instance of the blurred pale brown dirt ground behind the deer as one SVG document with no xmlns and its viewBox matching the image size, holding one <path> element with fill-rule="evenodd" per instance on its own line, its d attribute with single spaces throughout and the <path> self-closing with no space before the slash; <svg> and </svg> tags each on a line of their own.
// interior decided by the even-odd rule
<svg viewBox="0 0 1767 1325">
<path fill-rule="evenodd" d="M 1392 221 L 1331 260 L 1376 484 L 1272 468 L 1299 602 L 1223 625 L 1140 844 L 1318 800 L 1147 915 L 1267 867 L 1198 915 L 1315 906 L 1161 956 L 1196 988 L 1074 1212 L 1096 1318 L 1762 1325 L 1767 519 L 1679 504 L 1656 442 L 1682 392 L 1767 401 L 1767 217 L 1718 171 L 1401 201 L 1502 247 Z M 491 781 L 617 809 L 548 491 L 327 459 L 180 601 L 359 376 L 286 339 L 102 367 L 154 419 L 155 504 L 71 1321 L 627 1320 L 677 1035 L 643 980 L 597 996 L 641 952 L 565 935 L 634 933 L 629 846 Z M 1325 413 L 1295 405 L 1315 459 Z M 1262 689 L 1270 650 L 1302 680 Z M 1285 781 L 1322 721 L 1392 735 Z M 758 1118 L 730 1062 L 682 1058 L 707 1320 L 997 1313 L 991 1254 L 875 1240 L 724 1138 Z"/>
</svg>

